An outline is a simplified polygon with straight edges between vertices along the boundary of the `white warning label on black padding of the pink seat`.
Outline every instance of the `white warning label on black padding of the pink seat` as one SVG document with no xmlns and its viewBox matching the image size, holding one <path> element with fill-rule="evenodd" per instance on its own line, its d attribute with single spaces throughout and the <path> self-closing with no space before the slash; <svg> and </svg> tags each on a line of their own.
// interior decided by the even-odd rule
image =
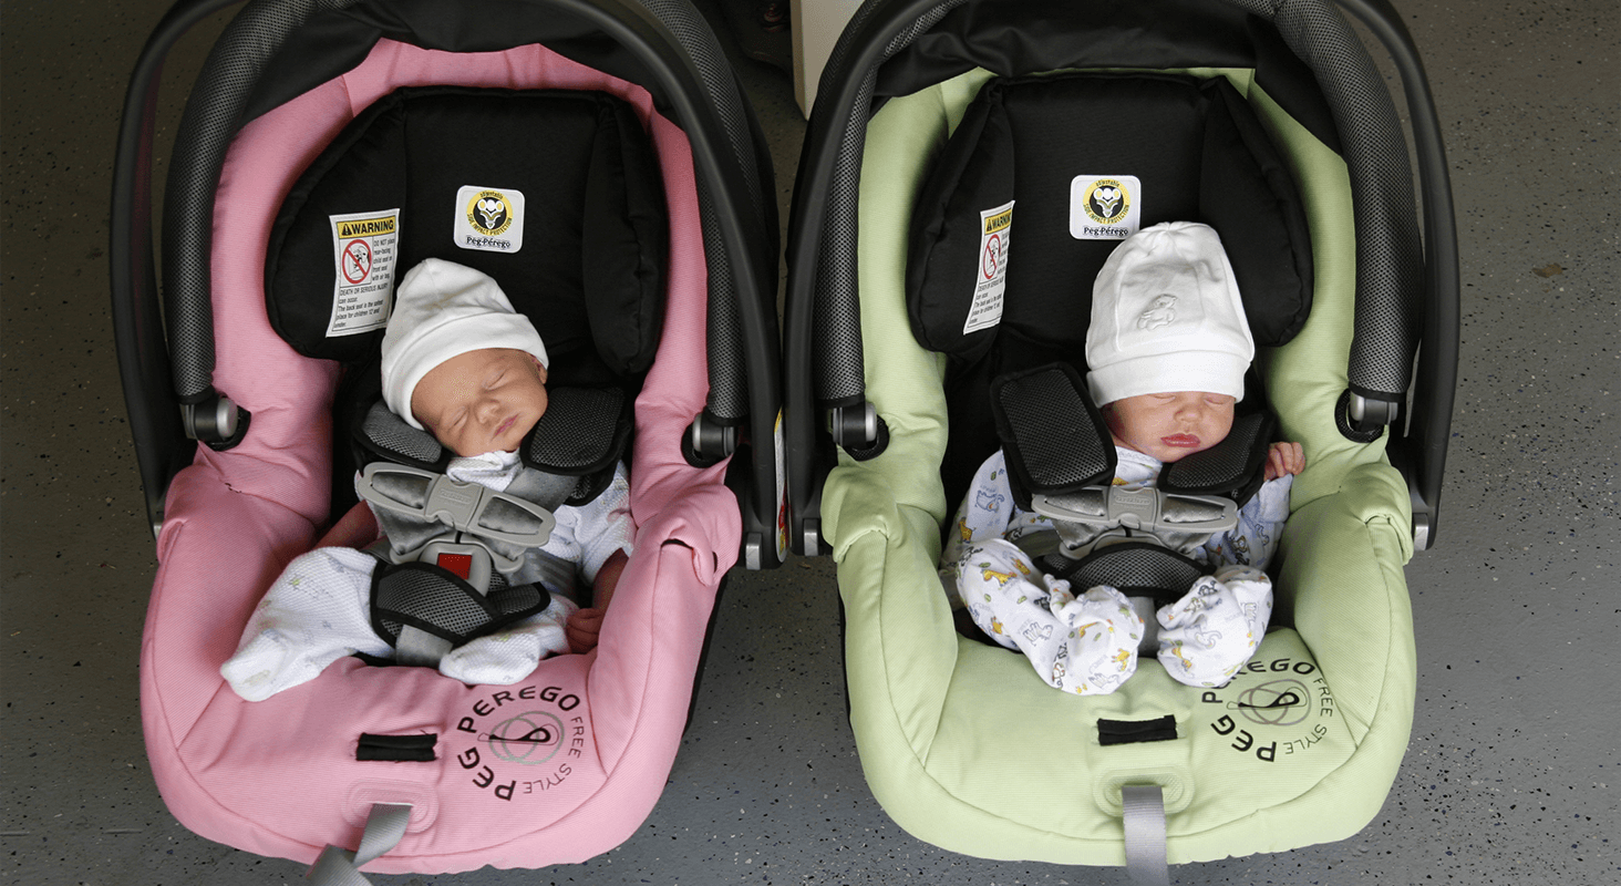
<svg viewBox="0 0 1621 886">
<path fill-rule="evenodd" d="M 327 338 L 381 329 L 394 305 L 394 261 L 399 255 L 400 211 L 327 216 L 332 222 L 332 318 Z"/>
</svg>

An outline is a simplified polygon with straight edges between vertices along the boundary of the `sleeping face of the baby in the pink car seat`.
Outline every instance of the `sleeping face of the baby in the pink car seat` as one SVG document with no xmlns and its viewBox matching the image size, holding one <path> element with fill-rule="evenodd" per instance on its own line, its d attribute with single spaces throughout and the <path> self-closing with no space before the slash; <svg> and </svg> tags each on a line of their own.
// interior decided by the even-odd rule
<svg viewBox="0 0 1621 886">
<path fill-rule="evenodd" d="M 410 409 L 459 456 L 511 453 L 546 412 L 546 367 L 524 351 L 468 351 L 421 376 Z"/>
</svg>

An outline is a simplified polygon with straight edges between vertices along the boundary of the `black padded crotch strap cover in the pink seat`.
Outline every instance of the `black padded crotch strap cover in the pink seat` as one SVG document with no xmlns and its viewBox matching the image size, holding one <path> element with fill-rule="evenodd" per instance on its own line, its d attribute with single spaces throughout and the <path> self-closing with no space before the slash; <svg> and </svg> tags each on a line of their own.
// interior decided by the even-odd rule
<svg viewBox="0 0 1621 886">
<path fill-rule="evenodd" d="M 433 563 L 383 563 L 371 574 L 371 630 L 391 644 L 405 625 L 460 646 L 551 605 L 535 584 L 507 587 L 491 576 L 488 596 Z"/>
</svg>

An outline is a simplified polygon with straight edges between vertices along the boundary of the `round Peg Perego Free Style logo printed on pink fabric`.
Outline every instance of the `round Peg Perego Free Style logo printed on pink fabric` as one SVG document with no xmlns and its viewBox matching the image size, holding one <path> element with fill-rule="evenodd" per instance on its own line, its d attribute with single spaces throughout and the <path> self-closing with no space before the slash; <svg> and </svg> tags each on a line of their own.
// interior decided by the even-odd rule
<svg viewBox="0 0 1621 886">
<path fill-rule="evenodd" d="M 499 800 L 545 794 L 574 774 L 585 753 L 580 696 L 559 686 L 498 690 L 473 703 L 456 724 L 472 743 L 456 755 L 470 784 Z"/>
</svg>

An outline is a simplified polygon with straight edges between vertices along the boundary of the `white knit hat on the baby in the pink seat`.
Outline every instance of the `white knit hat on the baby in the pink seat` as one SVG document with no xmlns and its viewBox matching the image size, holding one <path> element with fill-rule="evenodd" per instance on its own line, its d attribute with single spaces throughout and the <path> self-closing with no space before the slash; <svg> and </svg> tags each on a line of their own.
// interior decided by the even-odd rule
<svg viewBox="0 0 1621 886">
<path fill-rule="evenodd" d="M 383 333 L 383 402 L 412 427 L 410 396 L 430 370 L 483 347 L 511 347 L 548 365 L 546 344 L 527 316 L 512 310 L 488 274 L 430 258 L 394 292 L 394 315 Z"/>
</svg>

